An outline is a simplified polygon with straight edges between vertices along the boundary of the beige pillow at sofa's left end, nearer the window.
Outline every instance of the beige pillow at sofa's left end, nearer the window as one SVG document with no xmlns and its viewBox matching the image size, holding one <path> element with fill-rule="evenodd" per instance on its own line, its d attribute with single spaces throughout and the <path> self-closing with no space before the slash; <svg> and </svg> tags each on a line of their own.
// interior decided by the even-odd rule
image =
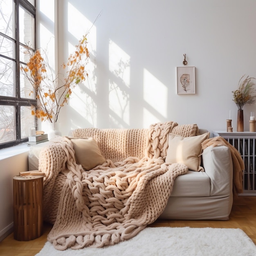
<svg viewBox="0 0 256 256">
<path fill-rule="evenodd" d="M 67 138 L 70 139 L 73 144 L 76 163 L 81 164 L 85 171 L 89 171 L 106 162 L 106 159 L 101 155 L 97 141 L 94 138 Z"/>
</svg>

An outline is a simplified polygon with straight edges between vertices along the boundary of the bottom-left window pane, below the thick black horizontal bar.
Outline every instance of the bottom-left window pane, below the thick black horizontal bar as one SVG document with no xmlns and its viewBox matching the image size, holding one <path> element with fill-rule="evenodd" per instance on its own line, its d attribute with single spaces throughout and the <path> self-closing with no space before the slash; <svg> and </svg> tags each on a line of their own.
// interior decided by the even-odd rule
<svg viewBox="0 0 256 256">
<path fill-rule="evenodd" d="M 15 107 L 0 105 L 0 143 L 16 140 Z"/>
</svg>

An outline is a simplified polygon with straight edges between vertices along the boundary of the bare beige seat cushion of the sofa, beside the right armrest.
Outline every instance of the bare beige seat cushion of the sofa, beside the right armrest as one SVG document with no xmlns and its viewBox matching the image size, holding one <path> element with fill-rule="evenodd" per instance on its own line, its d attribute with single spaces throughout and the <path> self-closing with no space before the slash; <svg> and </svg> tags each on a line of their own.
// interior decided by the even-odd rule
<svg viewBox="0 0 256 256">
<path fill-rule="evenodd" d="M 210 178 L 205 172 L 188 171 L 176 177 L 171 196 L 210 196 Z"/>
</svg>

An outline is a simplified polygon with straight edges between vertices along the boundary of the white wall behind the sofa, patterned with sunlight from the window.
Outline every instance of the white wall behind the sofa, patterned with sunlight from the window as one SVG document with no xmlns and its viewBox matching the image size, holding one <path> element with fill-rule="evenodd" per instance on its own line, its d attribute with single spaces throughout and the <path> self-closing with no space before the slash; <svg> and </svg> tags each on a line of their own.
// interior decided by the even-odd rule
<svg viewBox="0 0 256 256">
<path fill-rule="evenodd" d="M 229 110 L 236 130 L 231 91 L 244 74 L 256 77 L 255 0 L 61 0 L 58 13 L 60 63 L 101 13 L 88 35 L 89 79 L 61 112 L 63 135 L 167 120 L 225 130 Z M 196 67 L 196 94 L 176 94 L 183 54 Z"/>
</svg>

